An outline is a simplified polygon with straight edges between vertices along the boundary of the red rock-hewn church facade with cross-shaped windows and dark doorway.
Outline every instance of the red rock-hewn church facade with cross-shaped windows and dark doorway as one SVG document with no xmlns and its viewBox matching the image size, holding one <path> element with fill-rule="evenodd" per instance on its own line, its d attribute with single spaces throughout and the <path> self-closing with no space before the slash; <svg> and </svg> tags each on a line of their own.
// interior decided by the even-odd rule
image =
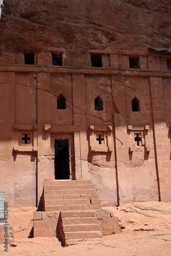
<svg viewBox="0 0 171 256">
<path fill-rule="evenodd" d="M 0 179 L 11 207 L 41 209 L 46 178 L 92 180 L 103 205 L 170 200 L 171 53 L 109 47 L 86 62 L 71 67 L 55 47 L 1 56 Z"/>
</svg>

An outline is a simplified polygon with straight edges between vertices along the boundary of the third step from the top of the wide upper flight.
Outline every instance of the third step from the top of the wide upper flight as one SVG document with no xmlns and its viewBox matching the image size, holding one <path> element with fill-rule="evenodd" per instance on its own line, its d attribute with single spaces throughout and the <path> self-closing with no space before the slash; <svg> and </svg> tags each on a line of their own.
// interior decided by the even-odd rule
<svg viewBox="0 0 171 256">
<path fill-rule="evenodd" d="M 49 190 L 44 188 L 44 195 L 93 195 L 96 194 L 96 189 L 59 189 L 59 190 Z"/>
</svg>

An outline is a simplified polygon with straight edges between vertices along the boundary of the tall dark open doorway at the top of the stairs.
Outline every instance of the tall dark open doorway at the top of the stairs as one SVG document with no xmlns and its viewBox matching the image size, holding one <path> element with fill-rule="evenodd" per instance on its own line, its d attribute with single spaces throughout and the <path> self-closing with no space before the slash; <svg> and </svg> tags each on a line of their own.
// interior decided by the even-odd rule
<svg viewBox="0 0 171 256">
<path fill-rule="evenodd" d="M 55 179 L 69 179 L 68 140 L 55 140 Z"/>
</svg>

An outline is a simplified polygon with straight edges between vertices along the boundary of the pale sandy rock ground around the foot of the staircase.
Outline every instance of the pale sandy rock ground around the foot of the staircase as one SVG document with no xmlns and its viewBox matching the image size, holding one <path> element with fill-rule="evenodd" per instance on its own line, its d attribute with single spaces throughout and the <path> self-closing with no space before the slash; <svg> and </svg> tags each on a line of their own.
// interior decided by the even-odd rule
<svg viewBox="0 0 171 256">
<path fill-rule="evenodd" d="M 62 247 L 57 238 L 16 238 L 16 247 L 1 255 L 160 256 L 171 255 L 171 203 L 134 203 L 106 207 L 119 217 L 119 234 L 104 236 L 100 243 Z M 154 236 L 154 235 L 159 236 Z M 165 234 L 161 236 L 161 234 Z"/>
</svg>

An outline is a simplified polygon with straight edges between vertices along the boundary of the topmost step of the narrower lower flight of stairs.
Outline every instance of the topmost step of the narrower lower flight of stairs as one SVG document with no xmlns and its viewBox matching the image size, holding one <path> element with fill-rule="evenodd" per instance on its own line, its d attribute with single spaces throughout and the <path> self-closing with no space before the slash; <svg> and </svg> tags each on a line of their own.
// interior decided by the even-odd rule
<svg viewBox="0 0 171 256">
<path fill-rule="evenodd" d="M 96 217 L 96 210 L 61 211 L 61 218 Z"/>
</svg>

